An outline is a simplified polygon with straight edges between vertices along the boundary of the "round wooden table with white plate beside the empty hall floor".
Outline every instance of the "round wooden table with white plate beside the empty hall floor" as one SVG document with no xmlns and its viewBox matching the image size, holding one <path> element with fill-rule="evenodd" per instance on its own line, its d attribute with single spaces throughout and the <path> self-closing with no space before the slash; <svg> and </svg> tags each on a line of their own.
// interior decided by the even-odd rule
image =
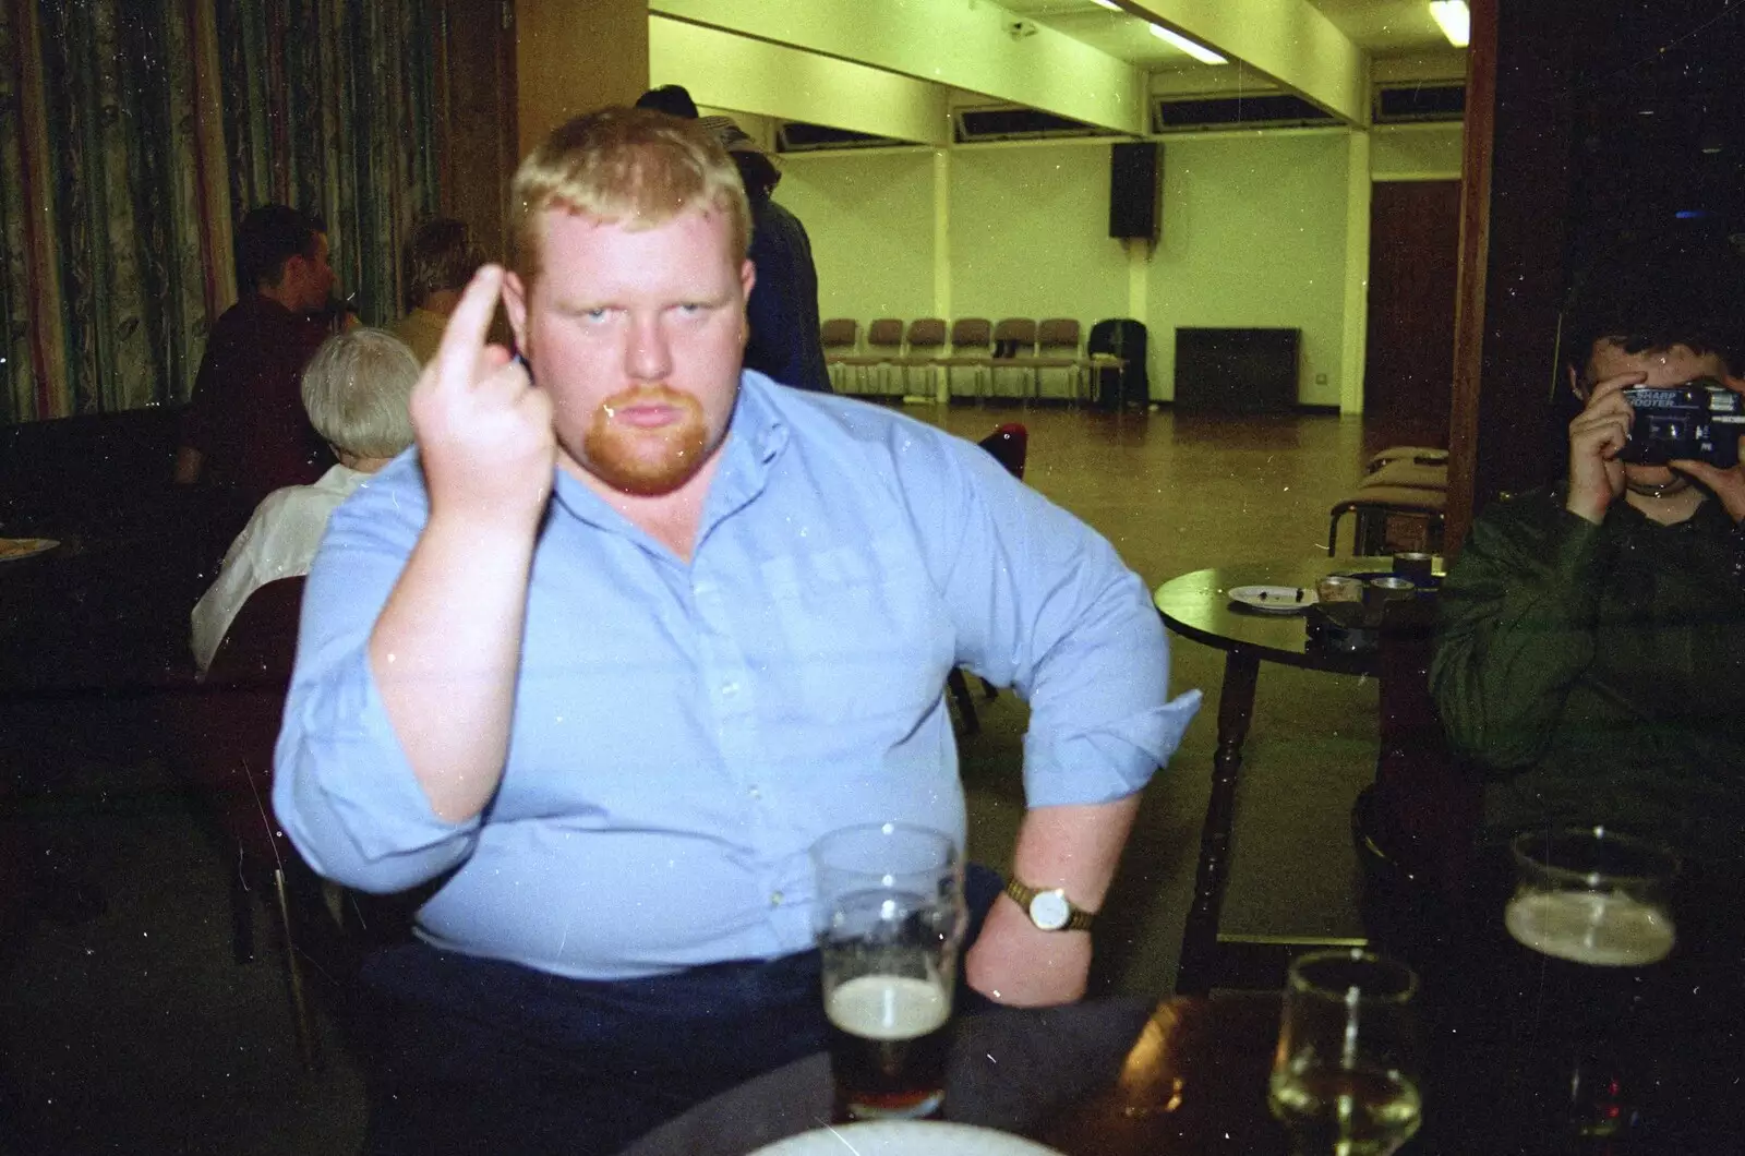
<svg viewBox="0 0 1745 1156">
<path fill-rule="evenodd" d="M 1347 655 L 1309 643 L 1302 615 L 1269 615 L 1232 602 L 1228 592 L 1244 585 L 1314 588 L 1333 573 L 1375 573 L 1393 559 L 1302 559 L 1197 569 L 1157 587 L 1152 601 L 1176 634 L 1225 651 L 1223 690 L 1218 697 L 1218 749 L 1213 754 L 1211 800 L 1201 826 L 1201 856 L 1194 873 L 1194 899 L 1181 932 L 1176 992 L 1204 995 L 1220 974 L 1218 919 L 1228 880 L 1230 826 L 1235 817 L 1235 781 L 1242 768 L 1242 742 L 1255 712 L 1255 683 L 1262 662 L 1305 671 L 1373 676 L 1375 653 Z M 1361 943 L 1323 941 L 1321 943 Z M 1309 946 L 1293 943 L 1291 946 Z"/>
</svg>

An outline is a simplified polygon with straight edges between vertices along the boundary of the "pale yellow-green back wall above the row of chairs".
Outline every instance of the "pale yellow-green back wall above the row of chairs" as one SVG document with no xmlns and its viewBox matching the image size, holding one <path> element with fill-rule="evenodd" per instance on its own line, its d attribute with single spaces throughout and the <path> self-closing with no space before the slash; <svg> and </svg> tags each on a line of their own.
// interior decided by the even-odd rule
<svg viewBox="0 0 1745 1156">
<path fill-rule="evenodd" d="M 1108 143 L 951 148 L 949 300 L 935 293 L 932 152 L 784 157 L 777 199 L 811 234 L 825 318 L 1075 316 L 1089 330 L 1138 304 L 1155 398 L 1173 396 L 1176 327 L 1300 328 L 1298 402 L 1338 405 L 1347 155 L 1345 133 L 1166 138 L 1146 260 L 1108 237 Z M 1377 178 L 1450 162 L 1459 126 L 1373 138 Z"/>
</svg>

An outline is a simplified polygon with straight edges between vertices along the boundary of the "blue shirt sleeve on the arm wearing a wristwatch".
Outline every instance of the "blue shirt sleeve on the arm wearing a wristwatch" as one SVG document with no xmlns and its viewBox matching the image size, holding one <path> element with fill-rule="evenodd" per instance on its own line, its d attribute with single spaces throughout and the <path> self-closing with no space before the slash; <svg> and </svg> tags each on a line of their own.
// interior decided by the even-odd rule
<svg viewBox="0 0 1745 1156">
<path fill-rule="evenodd" d="M 1169 698 L 1169 643 L 1145 583 L 1089 526 L 963 444 L 895 459 L 958 662 L 1030 702 L 1031 807 L 1106 803 L 1145 788 L 1201 693 Z"/>
</svg>

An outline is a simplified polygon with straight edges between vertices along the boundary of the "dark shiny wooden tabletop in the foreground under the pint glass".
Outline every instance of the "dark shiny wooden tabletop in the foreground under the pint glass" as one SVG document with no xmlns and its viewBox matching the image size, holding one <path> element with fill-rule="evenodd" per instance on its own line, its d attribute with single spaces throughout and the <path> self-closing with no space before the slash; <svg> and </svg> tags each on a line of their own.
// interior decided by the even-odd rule
<svg viewBox="0 0 1745 1156">
<path fill-rule="evenodd" d="M 958 1022 L 946 1118 L 1068 1156 L 1284 1156 L 1267 1112 L 1277 994 L 1112 999 Z M 743 1156 L 831 1121 L 831 1063 L 808 1056 L 668 1121 L 623 1156 Z"/>
</svg>

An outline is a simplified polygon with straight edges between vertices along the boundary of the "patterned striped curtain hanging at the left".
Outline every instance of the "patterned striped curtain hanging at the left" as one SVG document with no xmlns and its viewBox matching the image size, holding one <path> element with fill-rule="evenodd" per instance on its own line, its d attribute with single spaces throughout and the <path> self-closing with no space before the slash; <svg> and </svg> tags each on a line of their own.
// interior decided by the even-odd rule
<svg viewBox="0 0 1745 1156">
<path fill-rule="evenodd" d="M 230 231 L 326 218 L 398 316 L 438 204 L 429 0 L 0 0 L 0 423 L 185 402 Z"/>
</svg>

